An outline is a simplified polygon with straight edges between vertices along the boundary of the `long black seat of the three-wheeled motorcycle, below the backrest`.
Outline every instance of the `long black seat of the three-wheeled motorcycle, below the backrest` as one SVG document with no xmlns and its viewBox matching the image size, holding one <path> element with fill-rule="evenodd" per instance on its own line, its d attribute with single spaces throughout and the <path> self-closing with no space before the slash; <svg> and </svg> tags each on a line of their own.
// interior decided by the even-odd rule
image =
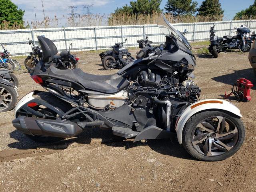
<svg viewBox="0 0 256 192">
<path fill-rule="evenodd" d="M 48 74 L 57 76 L 69 81 L 74 81 L 86 89 L 114 94 L 126 88 L 130 82 L 118 74 L 112 75 L 94 75 L 83 72 L 80 68 L 73 70 L 60 70 L 54 66 L 48 68 Z"/>
</svg>

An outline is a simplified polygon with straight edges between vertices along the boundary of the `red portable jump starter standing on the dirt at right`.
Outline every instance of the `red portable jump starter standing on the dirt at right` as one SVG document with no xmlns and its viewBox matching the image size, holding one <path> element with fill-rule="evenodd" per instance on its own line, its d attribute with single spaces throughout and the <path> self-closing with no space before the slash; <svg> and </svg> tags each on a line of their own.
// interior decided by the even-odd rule
<svg viewBox="0 0 256 192">
<path fill-rule="evenodd" d="M 236 80 L 237 90 L 244 94 L 244 100 L 250 101 L 252 98 L 250 96 L 251 88 L 253 87 L 252 82 L 245 78 L 239 78 Z"/>
</svg>

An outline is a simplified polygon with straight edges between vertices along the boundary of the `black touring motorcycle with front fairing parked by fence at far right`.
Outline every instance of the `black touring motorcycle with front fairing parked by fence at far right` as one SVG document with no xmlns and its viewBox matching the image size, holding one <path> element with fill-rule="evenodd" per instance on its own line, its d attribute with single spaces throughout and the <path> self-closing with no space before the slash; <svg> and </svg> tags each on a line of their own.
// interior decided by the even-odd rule
<svg viewBox="0 0 256 192">
<path fill-rule="evenodd" d="M 242 52 L 249 52 L 252 46 L 252 40 L 249 39 L 250 30 L 246 25 L 241 25 L 240 28 L 236 29 L 236 35 L 230 36 L 226 35 L 223 38 L 218 38 L 216 36 L 218 46 L 220 47 L 220 52 L 230 49 L 240 49 Z"/>
</svg>

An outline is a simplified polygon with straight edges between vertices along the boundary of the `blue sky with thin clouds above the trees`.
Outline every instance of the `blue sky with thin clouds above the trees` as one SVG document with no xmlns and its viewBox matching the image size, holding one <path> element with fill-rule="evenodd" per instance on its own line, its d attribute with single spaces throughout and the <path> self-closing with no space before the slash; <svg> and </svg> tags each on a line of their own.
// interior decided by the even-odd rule
<svg viewBox="0 0 256 192">
<path fill-rule="evenodd" d="M 198 6 L 200 6 L 202 0 L 196 0 Z M 42 11 L 41 0 L 12 0 L 18 8 L 25 10 L 23 19 L 28 22 L 35 20 L 34 7 L 36 7 L 36 19 L 44 20 Z M 164 9 L 167 0 L 162 0 L 161 8 Z M 220 0 L 222 9 L 224 10 L 224 20 L 231 20 L 236 12 L 242 9 L 248 8 L 252 5 L 254 0 Z M 68 6 L 77 6 L 74 12 L 78 14 L 86 13 L 86 9 L 83 8 L 85 4 L 93 4 L 90 8 L 90 12 L 94 14 L 110 14 L 114 12 L 117 7 L 122 7 L 125 4 L 130 4 L 130 0 L 43 0 L 45 15 L 53 18 L 54 15 L 57 18 L 63 18 L 70 13 Z"/>
</svg>

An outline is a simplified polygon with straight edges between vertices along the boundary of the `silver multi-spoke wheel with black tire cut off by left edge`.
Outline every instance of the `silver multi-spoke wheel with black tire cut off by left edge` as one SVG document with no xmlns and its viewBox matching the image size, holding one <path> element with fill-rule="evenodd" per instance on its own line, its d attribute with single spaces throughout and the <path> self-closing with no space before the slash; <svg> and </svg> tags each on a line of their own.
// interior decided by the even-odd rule
<svg viewBox="0 0 256 192">
<path fill-rule="evenodd" d="M 17 94 L 13 87 L 0 84 L 0 112 L 12 110 L 17 102 Z"/>
</svg>

